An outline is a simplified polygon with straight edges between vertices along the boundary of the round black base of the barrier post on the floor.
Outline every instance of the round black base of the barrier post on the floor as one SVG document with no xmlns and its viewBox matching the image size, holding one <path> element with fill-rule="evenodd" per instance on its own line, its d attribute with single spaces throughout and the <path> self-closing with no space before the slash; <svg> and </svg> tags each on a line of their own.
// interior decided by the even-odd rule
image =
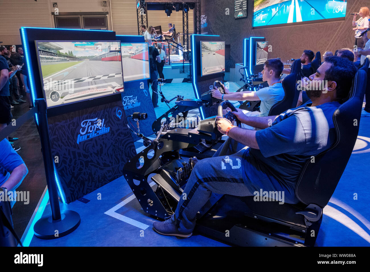
<svg viewBox="0 0 370 272">
<path fill-rule="evenodd" d="M 73 232 L 80 225 L 80 215 L 75 211 L 61 212 L 61 219 L 53 221 L 50 216 L 41 217 L 34 225 L 34 234 L 41 239 L 56 239 Z"/>
</svg>

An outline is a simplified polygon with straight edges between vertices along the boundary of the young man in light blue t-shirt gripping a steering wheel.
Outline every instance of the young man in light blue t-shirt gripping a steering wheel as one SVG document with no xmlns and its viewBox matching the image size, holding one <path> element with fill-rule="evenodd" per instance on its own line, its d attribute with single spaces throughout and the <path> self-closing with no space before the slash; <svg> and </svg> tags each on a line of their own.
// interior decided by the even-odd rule
<svg viewBox="0 0 370 272">
<path fill-rule="evenodd" d="M 277 102 L 283 100 L 285 92 L 280 83 L 280 74 L 284 69 L 284 64 L 279 58 L 266 60 L 262 70 L 262 81 L 267 81 L 269 87 L 258 91 L 243 91 L 231 93 L 224 85 L 225 93 L 223 96 L 219 90 L 212 90 L 212 96 L 223 100 L 233 101 L 258 101 L 261 100 L 260 111 L 243 110 L 246 116 L 268 116 L 270 108 Z M 243 128 L 254 129 L 253 127 L 242 124 Z"/>
</svg>

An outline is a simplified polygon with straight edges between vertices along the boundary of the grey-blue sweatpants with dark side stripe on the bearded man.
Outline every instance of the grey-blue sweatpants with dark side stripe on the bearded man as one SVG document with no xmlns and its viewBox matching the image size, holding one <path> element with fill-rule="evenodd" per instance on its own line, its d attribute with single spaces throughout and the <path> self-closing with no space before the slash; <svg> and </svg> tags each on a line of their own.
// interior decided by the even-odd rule
<svg viewBox="0 0 370 272">
<path fill-rule="evenodd" d="M 196 214 L 212 192 L 239 197 L 253 195 L 243 180 L 242 161 L 246 148 L 228 138 L 212 158 L 196 163 L 175 211 L 179 231 L 189 233 L 194 229 Z"/>
</svg>

